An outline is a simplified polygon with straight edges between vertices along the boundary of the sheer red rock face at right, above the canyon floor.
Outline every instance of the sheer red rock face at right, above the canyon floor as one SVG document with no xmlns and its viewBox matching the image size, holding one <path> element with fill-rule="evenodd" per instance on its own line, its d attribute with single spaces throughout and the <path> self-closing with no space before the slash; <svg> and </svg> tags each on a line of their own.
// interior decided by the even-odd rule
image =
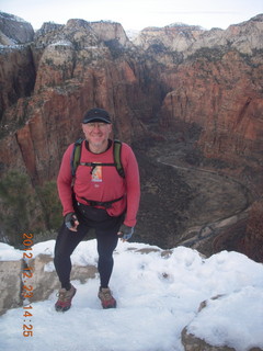
<svg viewBox="0 0 263 351">
<path fill-rule="evenodd" d="M 260 54 L 244 58 L 233 50 L 207 50 L 206 56 L 186 60 L 164 78 L 173 90 L 163 101 L 162 124 L 196 123 L 203 128 L 198 144 L 207 157 L 241 162 L 245 158 L 259 167 L 263 161 L 259 59 Z M 252 77 L 258 77 L 256 83 Z"/>
</svg>

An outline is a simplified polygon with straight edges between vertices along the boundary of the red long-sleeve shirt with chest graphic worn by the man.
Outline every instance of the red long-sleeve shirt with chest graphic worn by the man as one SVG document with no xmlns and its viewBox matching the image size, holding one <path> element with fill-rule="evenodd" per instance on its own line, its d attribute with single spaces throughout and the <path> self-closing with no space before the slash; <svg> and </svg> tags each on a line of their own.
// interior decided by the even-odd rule
<svg viewBox="0 0 263 351">
<path fill-rule="evenodd" d="M 66 150 L 60 170 L 58 173 L 57 185 L 59 197 L 64 207 L 64 216 L 70 212 L 75 212 L 72 205 L 72 173 L 71 173 L 71 155 L 73 144 Z M 122 165 L 125 172 L 123 179 L 114 166 L 99 166 L 91 174 L 91 167 L 79 166 L 76 171 L 73 181 L 73 192 L 78 202 L 87 204 L 82 199 L 92 201 L 107 202 L 112 200 L 122 200 L 112 204 L 106 208 L 110 216 L 118 216 L 126 210 L 124 224 L 134 227 L 139 207 L 140 185 L 138 163 L 132 148 L 122 143 L 121 152 Z M 102 154 L 93 154 L 89 151 L 85 143 L 81 145 L 81 162 L 114 162 L 113 144 Z"/>
</svg>

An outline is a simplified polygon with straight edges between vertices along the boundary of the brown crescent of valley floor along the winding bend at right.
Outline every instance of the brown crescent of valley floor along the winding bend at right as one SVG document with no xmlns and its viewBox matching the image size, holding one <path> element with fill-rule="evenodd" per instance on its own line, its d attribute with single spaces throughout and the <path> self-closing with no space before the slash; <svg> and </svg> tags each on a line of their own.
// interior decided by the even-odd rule
<svg viewBox="0 0 263 351">
<path fill-rule="evenodd" d="M 179 245 L 198 248 L 204 240 L 248 216 L 250 192 L 236 179 L 202 168 L 178 166 L 174 155 L 158 161 L 176 169 L 195 194 L 188 208 L 190 226 Z"/>
</svg>

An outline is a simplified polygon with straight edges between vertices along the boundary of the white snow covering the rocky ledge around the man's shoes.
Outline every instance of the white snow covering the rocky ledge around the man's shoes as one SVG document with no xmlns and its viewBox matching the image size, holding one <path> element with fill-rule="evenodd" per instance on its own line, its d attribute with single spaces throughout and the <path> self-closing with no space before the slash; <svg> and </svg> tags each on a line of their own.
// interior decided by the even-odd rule
<svg viewBox="0 0 263 351">
<path fill-rule="evenodd" d="M 53 256 L 54 245 L 39 242 L 30 252 L 34 258 Z M 0 316 L 0 350 L 183 351 L 185 326 L 213 346 L 263 349 L 262 263 L 233 251 L 205 259 L 185 247 L 174 248 L 170 256 L 161 256 L 161 250 L 142 254 L 138 250 L 144 248 L 158 249 L 118 242 L 110 285 L 116 309 L 102 309 L 98 275 L 83 284 L 72 281 L 77 294 L 64 314 L 54 308 L 54 292 L 48 299 L 27 305 L 32 316 L 24 317 L 23 307 Z M 23 252 L 0 244 L 0 260 L 20 260 Z M 73 264 L 96 264 L 96 241 L 82 241 L 71 259 Z M 45 271 L 54 271 L 53 262 Z M 198 313 L 203 301 L 207 306 Z M 23 325 L 32 337 L 23 336 Z"/>
</svg>

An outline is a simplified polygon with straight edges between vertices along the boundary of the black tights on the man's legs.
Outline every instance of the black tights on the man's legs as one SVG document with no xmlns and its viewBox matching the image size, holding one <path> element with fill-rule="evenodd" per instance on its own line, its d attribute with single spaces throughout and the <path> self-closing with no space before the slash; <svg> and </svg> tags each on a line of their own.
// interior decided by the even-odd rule
<svg viewBox="0 0 263 351">
<path fill-rule="evenodd" d="M 123 223 L 123 216 L 111 217 L 106 211 L 79 204 L 77 216 L 80 222 L 77 231 L 69 230 L 62 224 L 55 246 L 54 264 L 61 287 L 70 287 L 71 260 L 70 256 L 90 228 L 95 229 L 101 286 L 107 287 L 113 271 L 113 251 L 117 246 L 117 231 Z"/>
</svg>

